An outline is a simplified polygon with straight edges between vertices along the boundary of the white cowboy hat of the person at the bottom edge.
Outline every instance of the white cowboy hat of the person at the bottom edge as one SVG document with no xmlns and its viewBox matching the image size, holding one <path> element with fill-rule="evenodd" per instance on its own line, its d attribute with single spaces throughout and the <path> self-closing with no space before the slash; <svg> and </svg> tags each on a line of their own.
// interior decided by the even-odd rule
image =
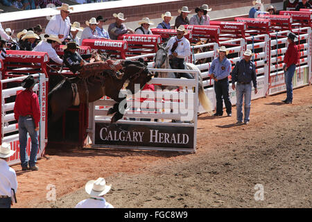
<svg viewBox="0 0 312 222">
<path fill-rule="evenodd" d="M 85 185 L 85 191 L 91 196 L 103 196 L 110 191 L 112 185 L 106 185 L 104 178 L 98 178 L 97 180 L 89 180 Z"/>
</svg>

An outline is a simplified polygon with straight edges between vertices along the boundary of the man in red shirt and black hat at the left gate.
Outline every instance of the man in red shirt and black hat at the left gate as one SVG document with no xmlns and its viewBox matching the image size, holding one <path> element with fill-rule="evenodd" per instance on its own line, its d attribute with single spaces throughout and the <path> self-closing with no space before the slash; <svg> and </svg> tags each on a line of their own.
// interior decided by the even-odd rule
<svg viewBox="0 0 312 222">
<path fill-rule="evenodd" d="M 19 122 L 19 155 L 21 160 L 21 170 L 26 171 L 31 169 L 37 171 L 37 151 L 38 138 L 37 131 L 39 130 L 40 108 L 38 96 L 33 92 L 35 86 L 33 76 L 28 76 L 21 83 L 21 87 L 26 88 L 19 92 L 15 99 L 14 117 Z M 31 156 L 28 168 L 28 155 L 26 153 L 27 133 L 31 137 Z"/>
</svg>

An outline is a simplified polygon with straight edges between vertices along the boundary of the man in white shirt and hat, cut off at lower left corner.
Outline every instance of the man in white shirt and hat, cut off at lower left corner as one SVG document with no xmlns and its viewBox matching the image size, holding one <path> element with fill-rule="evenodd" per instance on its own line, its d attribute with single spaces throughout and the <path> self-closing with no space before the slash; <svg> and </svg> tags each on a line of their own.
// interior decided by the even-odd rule
<svg viewBox="0 0 312 222">
<path fill-rule="evenodd" d="M 0 208 L 10 208 L 12 200 L 16 202 L 16 173 L 6 163 L 14 153 L 15 151 L 11 150 L 10 144 L 3 142 L 0 145 Z"/>
</svg>

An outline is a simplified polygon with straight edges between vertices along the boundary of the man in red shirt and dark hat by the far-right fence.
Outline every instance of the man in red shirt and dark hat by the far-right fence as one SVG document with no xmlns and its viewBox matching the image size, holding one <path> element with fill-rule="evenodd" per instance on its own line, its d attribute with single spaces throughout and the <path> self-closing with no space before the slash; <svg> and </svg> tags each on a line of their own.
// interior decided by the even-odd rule
<svg viewBox="0 0 312 222">
<path fill-rule="evenodd" d="M 298 46 L 295 44 L 296 35 L 289 33 L 287 42 L 288 48 L 284 56 L 284 75 L 286 83 L 287 98 L 284 103 L 293 103 L 293 75 L 295 74 L 296 64 L 299 60 Z"/>
</svg>

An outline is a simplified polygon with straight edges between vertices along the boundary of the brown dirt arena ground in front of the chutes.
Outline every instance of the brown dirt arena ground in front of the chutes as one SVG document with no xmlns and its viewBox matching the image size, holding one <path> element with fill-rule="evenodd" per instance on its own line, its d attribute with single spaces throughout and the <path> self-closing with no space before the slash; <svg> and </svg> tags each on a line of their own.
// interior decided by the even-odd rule
<svg viewBox="0 0 312 222">
<path fill-rule="evenodd" d="M 312 86 L 295 89 L 293 104 L 285 97 L 252 101 L 249 125 L 234 124 L 236 107 L 232 117 L 200 115 L 194 154 L 47 151 L 39 171 L 13 167 L 13 207 L 75 207 L 98 177 L 112 183 L 105 199 L 114 207 L 312 207 Z M 51 185 L 55 201 L 46 200 Z"/>
</svg>

